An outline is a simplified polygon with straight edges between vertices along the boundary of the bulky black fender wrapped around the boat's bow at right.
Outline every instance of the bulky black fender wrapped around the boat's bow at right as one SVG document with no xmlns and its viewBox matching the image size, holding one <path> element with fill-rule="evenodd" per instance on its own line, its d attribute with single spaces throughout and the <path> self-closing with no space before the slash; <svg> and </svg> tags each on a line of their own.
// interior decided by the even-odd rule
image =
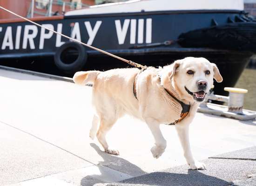
<svg viewBox="0 0 256 186">
<path fill-rule="evenodd" d="M 216 49 L 256 52 L 256 22 L 229 23 L 192 30 L 179 36 L 183 47 L 211 47 Z"/>
</svg>

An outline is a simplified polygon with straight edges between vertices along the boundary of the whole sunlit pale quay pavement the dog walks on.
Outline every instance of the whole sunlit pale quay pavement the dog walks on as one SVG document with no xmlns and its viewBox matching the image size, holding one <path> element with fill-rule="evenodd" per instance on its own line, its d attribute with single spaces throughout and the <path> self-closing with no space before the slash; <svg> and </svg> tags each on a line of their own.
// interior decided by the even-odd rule
<svg viewBox="0 0 256 186">
<path fill-rule="evenodd" d="M 190 183 L 190 178 L 221 179 L 216 183 L 229 185 L 236 181 L 241 186 L 253 180 L 256 185 L 256 156 L 249 148 L 256 146 L 255 120 L 196 113 L 190 128 L 192 151 L 196 159 L 206 159 L 208 169 L 189 171 L 182 166 L 186 161 L 173 126 L 161 127 L 168 146 L 154 159 L 148 127 L 129 116 L 118 120 L 108 135 L 120 156 L 104 153 L 89 138 L 91 87 L 6 70 L 0 70 L 0 85 L 0 186 L 96 186 L 134 179 L 141 179 L 139 185 L 164 186 L 157 182 L 160 178 L 170 186 L 170 181 L 179 185 L 174 179 Z M 248 148 L 244 154 L 229 153 L 244 148 Z M 208 159 L 219 154 L 226 159 Z M 231 169 L 236 173 L 230 174 L 232 178 Z M 243 177 L 247 173 L 252 174 L 249 180 Z"/>
</svg>

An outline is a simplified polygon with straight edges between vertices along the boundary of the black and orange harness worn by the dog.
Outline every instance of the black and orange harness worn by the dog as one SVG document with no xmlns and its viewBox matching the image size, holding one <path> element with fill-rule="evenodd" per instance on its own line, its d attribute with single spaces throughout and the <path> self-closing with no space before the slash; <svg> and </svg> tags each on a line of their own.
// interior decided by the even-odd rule
<svg viewBox="0 0 256 186">
<path fill-rule="evenodd" d="M 133 83 L 133 93 L 135 98 L 138 100 L 137 98 L 137 90 L 136 90 L 136 82 L 137 82 L 137 78 L 138 76 L 145 70 L 146 68 L 142 69 L 135 77 L 134 83 Z M 159 76 L 159 75 L 158 75 Z M 161 77 L 159 76 L 159 79 L 161 81 Z M 169 123 L 166 125 L 175 125 L 177 123 L 179 123 L 181 120 L 183 120 L 188 114 L 189 114 L 189 110 L 190 110 L 190 105 L 185 104 L 184 102 L 182 102 L 181 100 L 178 100 L 173 93 L 171 93 L 170 91 L 168 91 L 168 89 L 164 88 L 166 93 L 168 93 L 169 96 L 171 96 L 173 99 L 175 99 L 181 106 L 182 106 L 182 113 L 180 115 L 180 119 L 179 120 L 175 120 L 175 122 L 173 123 Z"/>
</svg>

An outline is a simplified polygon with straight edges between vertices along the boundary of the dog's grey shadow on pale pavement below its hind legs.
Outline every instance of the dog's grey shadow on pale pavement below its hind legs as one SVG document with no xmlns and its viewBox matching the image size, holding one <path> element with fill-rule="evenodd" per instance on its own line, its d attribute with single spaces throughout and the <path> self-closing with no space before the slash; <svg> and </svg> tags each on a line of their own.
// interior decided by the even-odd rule
<svg viewBox="0 0 256 186">
<path fill-rule="evenodd" d="M 88 175 L 81 179 L 81 186 L 93 186 L 96 183 L 101 183 L 100 180 L 106 179 L 107 176 L 106 174 L 106 168 L 109 167 L 111 169 L 114 169 L 119 172 L 124 172 L 122 170 L 126 170 L 125 173 L 128 175 L 133 175 L 133 176 L 141 176 L 143 174 L 146 174 L 143 170 L 141 170 L 140 167 L 135 166 L 134 164 L 130 163 L 128 160 L 120 158 L 115 155 L 110 155 L 108 153 L 105 153 L 101 151 L 99 146 L 97 146 L 94 143 L 90 143 L 90 146 L 94 148 L 94 150 L 101 156 L 103 161 L 100 161 L 98 163 L 98 168 L 101 172 L 101 175 Z M 94 179 L 94 181 L 92 181 Z M 95 180 L 95 179 L 98 179 Z"/>
</svg>

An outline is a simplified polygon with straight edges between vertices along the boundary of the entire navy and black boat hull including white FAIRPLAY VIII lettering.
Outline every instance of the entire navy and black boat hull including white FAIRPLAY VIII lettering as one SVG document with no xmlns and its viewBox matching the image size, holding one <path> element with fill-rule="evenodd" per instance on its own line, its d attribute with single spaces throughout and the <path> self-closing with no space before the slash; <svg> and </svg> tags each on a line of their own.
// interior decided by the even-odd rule
<svg viewBox="0 0 256 186">
<path fill-rule="evenodd" d="M 188 10 L 75 15 L 37 22 L 147 66 L 164 66 L 188 56 L 205 57 L 220 68 L 224 81 L 216 84 L 215 90 L 216 93 L 225 94 L 223 87 L 235 85 L 252 53 L 247 50 L 233 51 L 232 45 L 227 50 L 209 49 L 212 46 L 208 45 L 209 48 L 196 48 L 202 47 L 196 45 L 198 40 L 193 41 L 191 46 L 182 47 L 179 36 L 191 30 L 210 28 L 212 20 L 225 25 L 228 20 L 244 19 L 244 16 L 244 12 L 237 10 Z M 59 70 L 54 64 L 56 51 L 67 41 L 31 23 L 0 24 L 0 64 L 67 75 L 64 69 Z M 108 70 L 128 66 L 91 49 L 85 50 L 88 54 L 86 63 L 80 69 L 70 69 L 69 76 L 78 70 Z M 75 53 L 71 50 L 70 61 L 76 58 Z"/>
</svg>

